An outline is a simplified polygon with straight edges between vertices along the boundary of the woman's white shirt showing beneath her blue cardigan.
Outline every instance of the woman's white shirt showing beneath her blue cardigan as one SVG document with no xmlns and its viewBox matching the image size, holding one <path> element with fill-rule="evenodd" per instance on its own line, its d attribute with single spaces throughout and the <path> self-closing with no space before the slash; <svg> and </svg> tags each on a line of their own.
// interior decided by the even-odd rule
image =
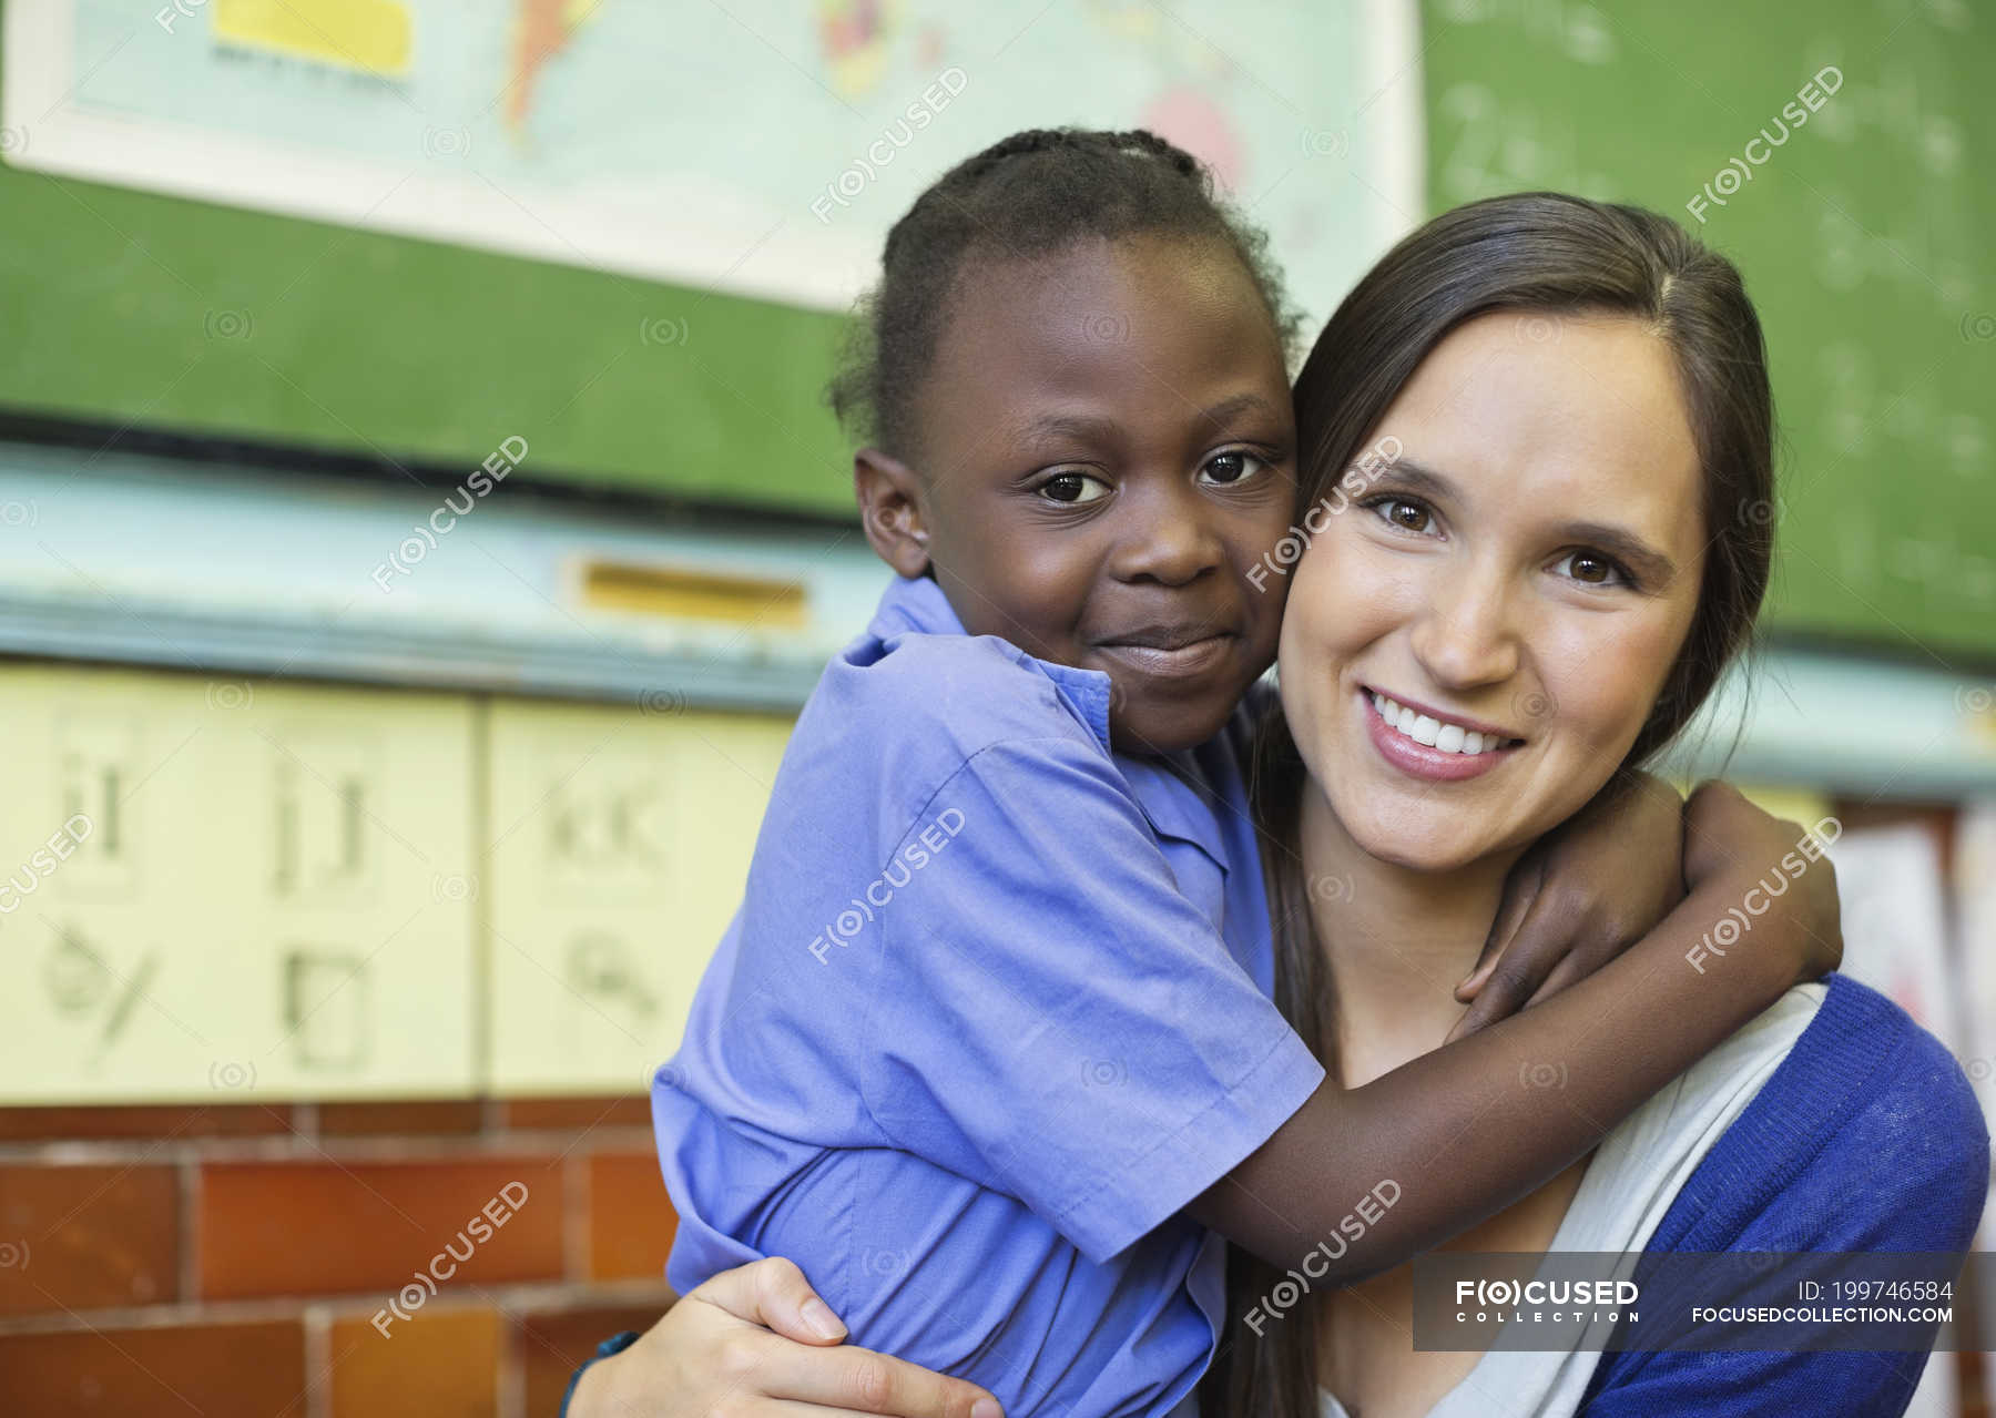
<svg viewBox="0 0 1996 1418">
<path fill-rule="evenodd" d="M 1816 1017 L 1828 987 L 1796 985 L 1611 1131 L 1549 1250 L 1643 1250 L 1705 1153 L 1752 1103 Z M 1427 1418 L 1571 1418 L 1597 1350 L 1491 1350 Z M 1321 1390 L 1321 1418 L 1351 1418 Z"/>
</svg>

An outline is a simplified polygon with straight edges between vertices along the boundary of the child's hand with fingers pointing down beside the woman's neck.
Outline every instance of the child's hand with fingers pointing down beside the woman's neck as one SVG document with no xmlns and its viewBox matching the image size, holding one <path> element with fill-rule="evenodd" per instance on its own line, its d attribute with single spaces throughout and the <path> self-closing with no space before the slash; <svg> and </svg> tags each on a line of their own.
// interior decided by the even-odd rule
<svg viewBox="0 0 1996 1418">
<path fill-rule="evenodd" d="M 1764 816 L 1764 814 L 1762 814 Z M 1671 784 L 1635 774 L 1519 858 L 1449 1039 L 1593 973 L 1685 899 L 1685 812 Z"/>
</svg>

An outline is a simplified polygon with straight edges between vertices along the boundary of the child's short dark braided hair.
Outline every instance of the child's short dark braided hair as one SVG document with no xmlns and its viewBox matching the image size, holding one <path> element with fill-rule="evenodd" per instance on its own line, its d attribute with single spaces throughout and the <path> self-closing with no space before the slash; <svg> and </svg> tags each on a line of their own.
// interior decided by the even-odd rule
<svg viewBox="0 0 1996 1418">
<path fill-rule="evenodd" d="M 1301 321 L 1267 235 L 1214 193 L 1206 164 L 1142 128 L 1030 128 L 950 168 L 888 231 L 880 283 L 860 299 L 826 389 L 838 421 L 912 457 L 916 395 L 972 257 L 1034 259 L 1132 235 L 1226 243 L 1293 353 Z"/>
</svg>

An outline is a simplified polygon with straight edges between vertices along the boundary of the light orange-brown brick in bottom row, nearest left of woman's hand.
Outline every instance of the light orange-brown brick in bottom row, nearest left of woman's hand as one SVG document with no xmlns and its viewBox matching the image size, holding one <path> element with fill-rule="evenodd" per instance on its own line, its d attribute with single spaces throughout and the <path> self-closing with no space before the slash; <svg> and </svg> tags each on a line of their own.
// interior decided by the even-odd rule
<svg viewBox="0 0 1996 1418">
<path fill-rule="evenodd" d="M 495 1310 L 433 1304 L 385 1328 L 375 1328 L 373 1314 L 333 1320 L 331 1418 L 489 1418 L 499 1410 Z"/>
</svg>

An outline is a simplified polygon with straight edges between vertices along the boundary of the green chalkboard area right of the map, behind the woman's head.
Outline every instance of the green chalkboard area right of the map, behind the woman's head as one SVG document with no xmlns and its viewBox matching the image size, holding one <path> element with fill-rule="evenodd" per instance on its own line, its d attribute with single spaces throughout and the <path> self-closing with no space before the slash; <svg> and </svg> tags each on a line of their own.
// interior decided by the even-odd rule
<svg viewBox="0 0 1996 1418">
<path fill-rule="evenodd" d="M 1784 435 L 1770 624 L 1986 660 L 1996 16 L 1423 0 L 1423 46 L 1431 207 L 1637 201 L 1745 271 Z"/>
</svg>

